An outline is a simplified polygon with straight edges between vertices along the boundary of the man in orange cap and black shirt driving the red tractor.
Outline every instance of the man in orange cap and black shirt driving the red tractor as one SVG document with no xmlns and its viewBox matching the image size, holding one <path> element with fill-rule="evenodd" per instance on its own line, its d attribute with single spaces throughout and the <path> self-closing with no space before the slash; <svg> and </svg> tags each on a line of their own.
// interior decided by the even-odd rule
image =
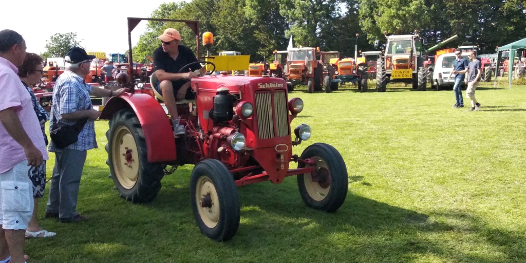
<svg viewBox="0 0 526 263">
<path fill-rule="evenodd" d="M 198 76 L 194 70 L 200 69 L 200 66 L 194 64 L 183 68 L 189 63 L 197 62 L 197 57 L 190 48 L 179 45 L 181 35 L 176 29 L 167 28 L 157 38 L 161 40 L 161 45 L 154 51 L 154 71 L 158 79 L 155 89 L 163 96 L 174 124 L 174 136 L 177 137 L 185 133 L 185 127 L 179 124 L 176 100 L 194 99 L 190 79 Z M 200 75 L 204 75 L 204 70 L 204 67 L 201 68 Z"/>
</svg>

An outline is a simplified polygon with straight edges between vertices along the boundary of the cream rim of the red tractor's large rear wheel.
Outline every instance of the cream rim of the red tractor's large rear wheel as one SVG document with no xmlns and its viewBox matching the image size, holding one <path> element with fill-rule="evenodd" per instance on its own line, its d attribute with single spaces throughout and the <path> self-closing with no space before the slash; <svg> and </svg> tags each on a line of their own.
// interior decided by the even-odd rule
<svg viewBox="0 0 526 263">
<path fill-rule="evenodd" d="M 120 185 L 131 189 L 139 178 L 139 156 L 135 138 L 130 130 L 120 126 L 112 139 L 112 160 Z"/>
</svg>

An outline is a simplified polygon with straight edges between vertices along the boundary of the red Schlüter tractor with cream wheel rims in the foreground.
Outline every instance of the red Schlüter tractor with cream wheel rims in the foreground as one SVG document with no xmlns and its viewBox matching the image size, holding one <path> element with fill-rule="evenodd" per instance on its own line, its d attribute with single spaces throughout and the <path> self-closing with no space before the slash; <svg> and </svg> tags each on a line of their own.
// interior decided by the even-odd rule
<svg viewBox="0 0 526 263">
<path fill-rule="evenodd" d="M 128 25 L 133 23 L 128 28 L 141 19 L 153 18 L 128 18 Z M 186 23 L 199 41 L 197 21 L 164 21 Z M 310 138 L 311 129 L 306 124 L 290 127 L 304 103 L 288 97 L 285 80 L 217 76 L 213 63 L 196 63 L 210 64 L 210 75 L 191 79 L 195 102 L 177 102 L 183 136 L 174 139 L 168 116 L 152 96 L 127 93 L 106 104 L 100 118 L 109 119 L 107 164 L 120 196 L 134 203 L 150 201 L 161 189 L 163 176 L 177 166 L 195 165 L 191 206 L 201 232 L 216 241 L 230 239 L 239 227 L 237 186 L 280 184 L 298 175 L 307 206 L 336 211 L 348 191 L 345 162 L 334 147 L 323 143 L 308 146 L 301 156 L 292 153 L 292 146 Z M 292 161 L 298 168 L 289 167 Z"/>
</svg>

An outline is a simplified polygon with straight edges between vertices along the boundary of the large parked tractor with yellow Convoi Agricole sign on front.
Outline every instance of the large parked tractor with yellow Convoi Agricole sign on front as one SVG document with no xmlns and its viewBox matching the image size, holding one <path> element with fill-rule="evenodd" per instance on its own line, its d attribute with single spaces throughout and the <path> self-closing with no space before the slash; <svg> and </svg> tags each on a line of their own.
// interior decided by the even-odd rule
<svg viewBox="0 0 526 263">
<path fill-rule="evenodd" d="M 425 91 L 427 72 L 423 66 L 424 55 L 457 37 L 454 35 L 426 50 L 423 45 L 427 44 L 427 39 L 418 34 L 388 36 L 384 57 L 377 62 L 378 92 L 386 92 L 387 83 L 391 82 L 412 84 L 413 89 Z"/>
</svg>

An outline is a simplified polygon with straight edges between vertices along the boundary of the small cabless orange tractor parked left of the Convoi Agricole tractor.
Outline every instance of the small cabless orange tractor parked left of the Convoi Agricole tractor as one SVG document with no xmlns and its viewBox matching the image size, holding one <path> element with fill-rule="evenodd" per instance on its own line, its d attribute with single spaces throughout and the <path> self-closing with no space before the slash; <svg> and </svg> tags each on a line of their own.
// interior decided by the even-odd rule
<svg viewBox="0 0 526 263">
<path fill-rule="evenodd" d="M 357 64 L 354 58 L 344 57 L 338 62 L 338 79 L 340 86 L 352 83 L 361 92 L 367 92 L 367 64 Z"/>
</svg>

